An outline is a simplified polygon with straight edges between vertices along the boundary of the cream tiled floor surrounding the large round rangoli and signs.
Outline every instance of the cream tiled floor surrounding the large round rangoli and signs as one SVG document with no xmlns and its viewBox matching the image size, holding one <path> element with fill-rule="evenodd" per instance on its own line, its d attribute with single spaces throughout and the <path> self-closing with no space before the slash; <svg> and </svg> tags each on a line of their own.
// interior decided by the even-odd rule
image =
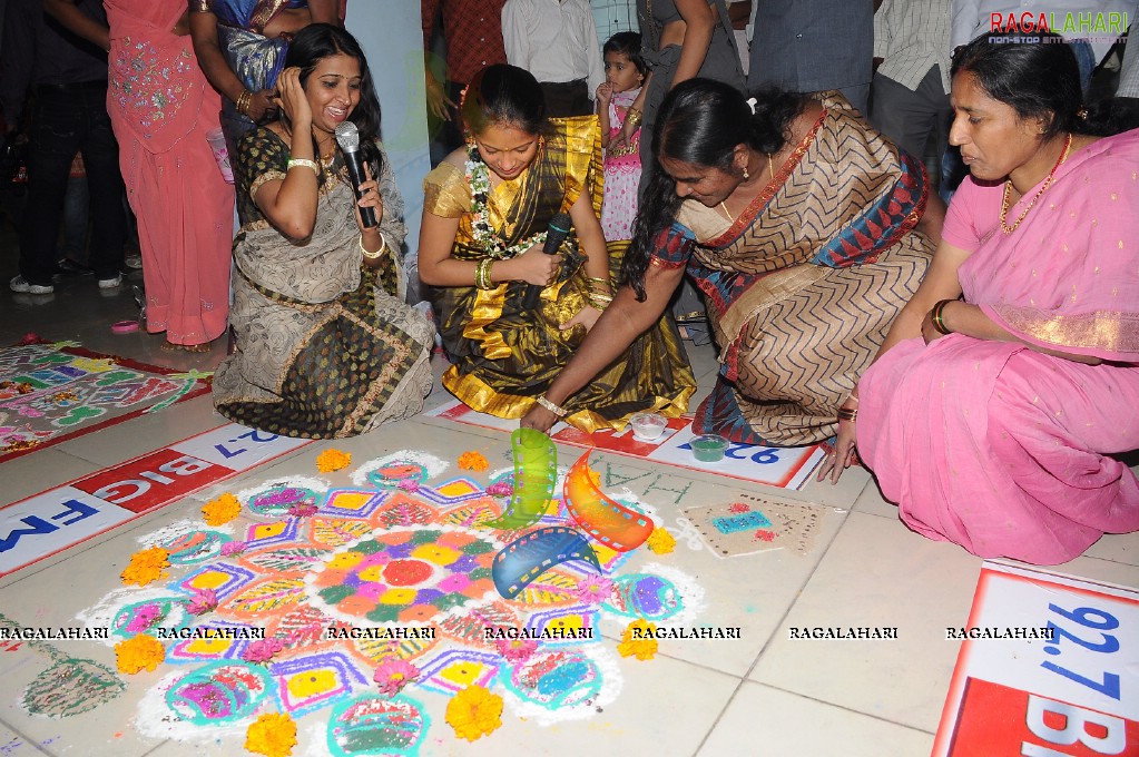
<svg viewBox="0 0 1139 757">
<path fill-rule="evenodd" d="M 14 263 L 9 255 L 3 257 Z M 14 271 L 7 275 L 11 274 Z M 100 293 L 90 279 L 62 282 L 55 295 L 46 297 L 3 291 L 0 344 L 35 332 L 144 362 L 202 370 L 211 370 L 222 357 L 221 346 L 206 355 L 188 355 L 161 351 L 161 337 L 112 335 L 112 322 L 134 314 L 129 290 Z M 714 375 L 714 356 L 708 348 L 696 349 L 694 362 L 706 392 Z M 436 389 L 429 403 L 434 406 L 446 398 Z M 210 397 L 199 397 L 5 463 L 0 468 L 0 505 L 221 422 Z M 120 586 L 118 571 L 148 534 L 198 517 L 202 502 L 220 491 L 238 491 L 278 474 L 312 471 L 316 454 L 328 446 L 333 445 L 303 447 L 0 579 L 0 611 L 23 625 L 75 624 L 77 611 Z M 452 462 L 459 452 L 477 449 L 491 460 L 492 469 L 506 466 L 509 450 L 503 434 L 459 429 L 428 419 L 403 421 L 335 446 L 352 452 L 354 460 L 413 449 Z M 576 456 L 572 449 L 564 453 Z M 837 487 L 811 482 L 800 492 L 776 493 L 655 463 L 598 460 L 632 471 L 629 478 L 648 470 L 683 483 L 670 486 L 672 493 L 662 486 L 638 491 L 637 484 L 629 485 L 638 500 L 655 508 L 665 525 L 678 533 L 680 508 L 731 501 L 747 492 L 821 505 L 825 517 L 806 554 L 775 551 L 721 559 L 698 541 L 690 544 L 683 537 L 669 556 L 638 550 L 628 563 L 631 569 L 665 565 L 691 576 L 703 589 L 703 609 L 694 623 L 739 626 L 741 637 L 663 641 L 652 661 L 621 659 L 614 653 L 623 684 L 603 713 L 542 726 L 508 708 L 502 729 L 473 744 L 457 741 L 444 723 L 445 699 L 424 693 L 419 698 L 432 725 L 420 754 L 928 754 L 958 652 L 958 642 L 944 641 L 944 628 L 966 620 L 981 565 L 977 558 L 910 533 L 860 469 L 849 471 Z M 328 478 L 333 485 L 347 484 L 346 471 Z M 1105 537 L 1085 557 L 1057 570 L 1139 586 L 1139 534 Z M 895 626 L 899 631 L 893 641 L 788 637 L 789 627 L 814 625 Z M 622 625 L 613 622 L 601 626 L 608 640 L 603 644 L 611 651 L 621 630 Z M 114 667 L 109 647 L 68 644 L 65 651 L 69 655 Z M 244 729 L 189 740 L 140 732 L 138 701 L 170 674 L 170 666 L 130 677 L 123 696 L 91 713 L 63 719 L 30 716 L 21 706 L 22 692 L 48 665 L 44 657 L 27 648 L 0 651 L 0 755 L 243 754 Z M 326 754 L 327 715 L 326 708 L 300 718 L 301 744 L 295 754 Z"/>
</svg>

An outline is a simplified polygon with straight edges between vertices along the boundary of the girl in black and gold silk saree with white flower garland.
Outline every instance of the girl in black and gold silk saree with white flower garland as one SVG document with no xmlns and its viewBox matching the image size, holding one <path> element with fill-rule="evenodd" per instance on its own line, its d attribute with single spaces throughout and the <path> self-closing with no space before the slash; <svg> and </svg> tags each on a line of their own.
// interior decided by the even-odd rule
<svg viewBox="0 0 1139 757">
<path fill-rule="evenodd" d="M 538 82 L 506 65 L 475 76 L 462 113 L 467 149 L 424 181 L 419 275 L 452 363 L 443 385 L 475 410 L 521 418 L 612 301 L 621 245 L 606 247 L 597 220 L 600 131 L 596 116 L 546 121 Z M 559 213 L 573 230 L 546 255 Z M 640 411 L 681 414 L 695 388 L 675 327 L 658 319 L 558 414 L 588 433 L 621 428 Z"/>
</svg>

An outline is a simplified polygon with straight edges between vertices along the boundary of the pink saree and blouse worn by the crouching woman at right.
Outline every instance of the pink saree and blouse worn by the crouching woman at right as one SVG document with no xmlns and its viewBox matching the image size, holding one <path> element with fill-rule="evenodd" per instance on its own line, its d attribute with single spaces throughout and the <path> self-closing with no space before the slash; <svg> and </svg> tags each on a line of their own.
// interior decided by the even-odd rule
<svg viewBox="0 0 1139 757">
<path fill-rule="evenodd" d="M 1013 233 L 1000 186 L 962 189 L 944 238 L 974 250 L 964 298 L 1019 342 L 896 345 L 859 382 L 859 454 L 913 530 L 1064 562 L 1139 529 L 1139 482 L 1112 456 L 1139 449 L 1139 132 L 1070 157 Z"/>
</svg>

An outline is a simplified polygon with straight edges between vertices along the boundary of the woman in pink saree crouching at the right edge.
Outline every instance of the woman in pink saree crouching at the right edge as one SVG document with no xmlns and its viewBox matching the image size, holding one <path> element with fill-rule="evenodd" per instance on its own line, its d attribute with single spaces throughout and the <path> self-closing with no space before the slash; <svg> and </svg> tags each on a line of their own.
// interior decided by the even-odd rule
<svg viewBox="0 0 1139 757">
<path fill-rule="evenodd" d="M 1139 131 L 1081 106 L 1059 39 L 953 60 L 970 176 L 933 266 L 839 411 L 903 523 L 969 552 L 1054 565 L 1139 530 Z M 1114 135 L 1113 135 L 1114 134 Z"/>
</svg>

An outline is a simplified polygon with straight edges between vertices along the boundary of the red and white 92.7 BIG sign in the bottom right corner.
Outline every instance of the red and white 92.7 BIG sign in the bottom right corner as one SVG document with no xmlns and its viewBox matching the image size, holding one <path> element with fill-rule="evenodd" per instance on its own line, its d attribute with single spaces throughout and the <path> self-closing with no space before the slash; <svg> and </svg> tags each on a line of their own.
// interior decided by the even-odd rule
<svg viewBox="0 0 1139 757">
<path fill-rule="evenodd" d="M 1139 592 L 985 562 L 935 756 L 1139 756 Z"/>
</svg>

